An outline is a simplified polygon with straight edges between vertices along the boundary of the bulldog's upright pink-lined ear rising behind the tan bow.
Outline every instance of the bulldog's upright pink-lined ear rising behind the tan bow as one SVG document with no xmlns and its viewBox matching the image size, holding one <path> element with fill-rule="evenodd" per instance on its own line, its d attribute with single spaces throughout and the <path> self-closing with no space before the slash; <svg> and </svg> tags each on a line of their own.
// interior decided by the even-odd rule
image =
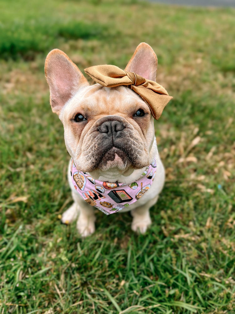
<svg viewBox="0 0 235 314">
<path fill-rule="evenodd" d="M 148 44 L 141 42 L 128 62 L 125 71 L 134 72 L 143 78 L 155 81 L 157 67 L 158 58 L 155 52 Z"/>
</svg>

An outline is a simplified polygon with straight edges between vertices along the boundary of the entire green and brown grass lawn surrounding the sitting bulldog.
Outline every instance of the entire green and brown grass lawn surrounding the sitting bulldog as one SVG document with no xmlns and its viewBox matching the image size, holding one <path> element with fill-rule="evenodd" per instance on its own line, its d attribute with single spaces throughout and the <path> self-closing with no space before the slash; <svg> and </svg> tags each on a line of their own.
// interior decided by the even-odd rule
<svg viewBox="0 0 235 314">
<path fill-rule="evenodd" d="M 3 0 L 0 12 L 0 313 L 235 313 L 235 10 Z M 124 68 L 141 41 L 174 96 L 155 123 L 165 188 L 146 235 L 128 213 L 97 212 L 82 239 L 58 219 L 69 156 L 44 59 L 60 48 L 81 70 Z"/>
</svg>

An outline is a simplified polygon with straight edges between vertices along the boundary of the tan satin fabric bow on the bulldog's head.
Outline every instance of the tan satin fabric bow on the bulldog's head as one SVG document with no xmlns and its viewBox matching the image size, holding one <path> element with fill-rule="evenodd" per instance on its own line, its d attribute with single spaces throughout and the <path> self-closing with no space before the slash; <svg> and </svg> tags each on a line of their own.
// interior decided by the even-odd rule
<svg viewBox="0 0 235 314">
<path fill-rule="evenodd" d="M 128 86 L 147 102 L 156 120 L 159 119 L 164 107 L 172 99 L 160 84 L 136 73 L 124 71 L 115 65 L 97 65 L 86 68 L 84 71 L 95 82 L 103 86 Z"/>
</svg>

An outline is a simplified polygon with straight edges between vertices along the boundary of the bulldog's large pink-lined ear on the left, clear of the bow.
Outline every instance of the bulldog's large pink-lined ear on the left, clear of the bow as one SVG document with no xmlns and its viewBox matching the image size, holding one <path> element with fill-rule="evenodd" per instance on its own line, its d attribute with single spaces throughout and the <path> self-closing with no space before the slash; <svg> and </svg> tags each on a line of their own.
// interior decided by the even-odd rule
<svg viewBox="0 0 235 314">
<path fill-rule="evenodd" d="M 50 105 L 58 115 L 78 89 L 89 85 L 76 64 L 59 49 L 53 49 L 47 55 L 45 76 L 50 88 Z"/>
</svg>

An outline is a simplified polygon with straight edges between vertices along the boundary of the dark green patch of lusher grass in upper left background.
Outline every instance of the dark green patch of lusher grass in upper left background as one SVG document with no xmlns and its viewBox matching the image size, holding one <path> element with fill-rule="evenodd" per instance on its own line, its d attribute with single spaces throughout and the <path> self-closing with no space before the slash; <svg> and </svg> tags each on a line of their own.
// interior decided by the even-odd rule
<svg viewBox="0 0 235 314">
<path fill-rule="evenodd" d="M 12 24 L 9 29 L 2 27 L 0 35 L 0 57 L 4 59 L 23 57 L 32 60 L 38 52 L 46 52 L 58 41 L 71 38 L 89 39 L 98 37 L 104 32 L 100 24 L 88 24 L 81 21 L 61 24 L 50 20 L 36 21 L 37 24 Z M 30 29 L 30 33 L 29 33 Z"/>
</svg>

